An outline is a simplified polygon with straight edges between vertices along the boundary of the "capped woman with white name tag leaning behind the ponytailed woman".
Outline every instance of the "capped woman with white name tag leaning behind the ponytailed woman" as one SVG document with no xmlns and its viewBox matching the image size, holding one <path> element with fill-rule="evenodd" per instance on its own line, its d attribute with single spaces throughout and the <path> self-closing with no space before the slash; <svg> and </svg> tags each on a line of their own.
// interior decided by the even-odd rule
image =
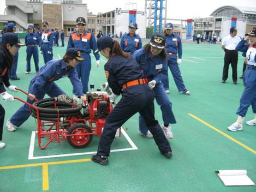
<svg viewBox="0 0 256 192">
<path fill-rule="evenodd" d="M 153 35 L 150 43 L 146 44 L 142 49 L 135 51 L 132 56 L 140 64 L 140 69 L 147 77 L 148 85 L 153 89 L 157 104 L 162 110 L 164 121 L 162 129 L 164 134 L 167 138 L 172 139 L 173 134 L 169 124 L 176 123 L 176 119 L 172 112 L 172 104 L 161 82 L 168 70 L 164 45 L 165 38 L 162 35 Z M 140 135 L 151 138 L 152 135 L 141 116 L 139 117 L 139 125 Z"/>
</svg>

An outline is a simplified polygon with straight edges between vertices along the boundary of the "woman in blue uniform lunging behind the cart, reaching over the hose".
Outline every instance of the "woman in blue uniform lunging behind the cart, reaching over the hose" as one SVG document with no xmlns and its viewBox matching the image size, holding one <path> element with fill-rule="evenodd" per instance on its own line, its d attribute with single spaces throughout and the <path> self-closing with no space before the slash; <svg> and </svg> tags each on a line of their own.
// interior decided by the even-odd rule
<svg viewBox="0 0 256 192">
<path fill-rule="evenodd" d="M 65 94 L 54 82 L 63 77 L 68 77 L 70 79 L 74 87 L 74 93 L 79 95 L 81 100 L 85 100 L 82 93 L 82 83 L 78 79 L 78 73 L 76 73 L 75 70 L 78 61 L 83 59 L 80 56 L 80 51 L 78 49 L 68 49 L 62 59 L 51 60 L 41 67 L 39 73 L 31 79 L 28 87 L 29 94 L 27 102 L 33 104 L 34 98 L 38 98 L 39 100 L 43 99 L 45 94 L 50 97 L 57 97 L 58 95 Z M 10 119 L 8 119 L 8 131 L 16 131 L 16 127 L 20 127 L 29 116 L 29 106 L 25 104 L 20 107 Z"/>
</svg>

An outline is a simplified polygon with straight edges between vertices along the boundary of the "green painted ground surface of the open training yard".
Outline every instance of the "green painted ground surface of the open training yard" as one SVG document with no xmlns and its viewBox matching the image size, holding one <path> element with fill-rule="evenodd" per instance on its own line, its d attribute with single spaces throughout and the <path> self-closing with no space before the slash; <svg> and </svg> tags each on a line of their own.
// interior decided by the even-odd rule
<svg viewBox="0 0 256 192">
<path fill-rule="evenodd" d="M 66 48 L 54 47 L 53 57 L 63 56 Z M 243 91 L 242 80 L 233 85 L 231 73 L 227 83 L 222 84 L 223 51 L 220 45 L 183 44 L 183 62 L 180 65 L 184 83 L 192 93 L 183 95 L 177 92 L 169 71 L 170 98 L 177 124 L 172 125 L 174 139 L 170 140 L 174 156 L 165 159 L 160 155 L 154 141 L 138 134 L 138 115 L 123 125 L 126 133 L 138 149 L 110 154 L 109 165 L 101 166 L 92 161 L 72 164 L 49 165 L 48 191 L 256 191 L 256 187 L 224 187 L 216 175 L 216 170 L 245 169 L 248 176 L 256 182 L 256 127 L 244 123 L 243 130 L 230 132 L 227 127 L 235 122 L 235 111 Z M 243 57 L 239 54 L 238 74 L 241 75 Z M 105 58 L 101 57 L 103 61 Z M 90 82 L 99 87 L 105 82 L 104 62 L 96 68 L 92 56 Z M 32 62 L 33 63 L 33 62 Z M 39 58 L 43 66 L 43 57 Z M 27 91 L 29 80 L 35 75 L 25 75 L 26 48 L 20 49 L 17 76 L 20 81 L 11 81 L 13 85 Z M 231 69 L 230 69 L 231 72 Z M 69 80 L 62 79 L 57 84 L 72 95 Z M 25 99 L 22 93 L 15 96 Z M 12 104 L 2 103 L 5 107 L 5 121 L 22 105 L 15 100 Z M 162 124 L 162 113 L 155 105 L 156 118 Z M 234 137 L 246 148 L 229 140 L 197 119 L 192 113 L 223 133 Z M 253 118 L 251 107 L 246 121 Z M 91 157 L 74 155 L 68 157 L 28 160 L 31 133 L 36 130 L 34 118 L 29 118 L 16 132 L 10 133 L 4 128 L 3 141 L 7 146 L 0 149 L 0 167 L 52 161 L 79 160 Z M 94 136 L 90 146 L 74 149 L 67 142 L 51 143 L 45 150 L 34 145 L 34 157 L 56 154 L 86 153 L 97 150 L 99 138 Z M 122 135 L 117 138 L 112 149 L 130 148 Z M 1 168 L 0 168 L 1 169 Z M 0 170 L 0 191 L 43 191 L 42 166 Z"/>
</svg>

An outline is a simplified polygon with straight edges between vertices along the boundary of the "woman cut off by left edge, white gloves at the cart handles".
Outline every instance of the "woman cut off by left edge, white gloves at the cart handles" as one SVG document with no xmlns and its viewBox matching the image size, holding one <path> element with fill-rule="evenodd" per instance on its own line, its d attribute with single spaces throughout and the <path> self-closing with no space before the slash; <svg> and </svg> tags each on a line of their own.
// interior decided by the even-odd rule
<svg viewBox="0 0 256 192">
<path fill-rule="evenodd" d="M 13 95 L 9 94 L 5 88 L 7 87 L 10 91 L 16 91 L 16 86 L 10 85 L 9 82 L 9 71 L 13 65 L 13 56 L 17 51 L 19 51 L 20 40 L 18 35 L 15 33 L 5 33 L 2 37 L 2 42 L 0 43 L 0 93 L 5 101 L 12 102 L 14 100 Z M 4 123 L 5 110 L 0 104 L 0 141 L 2 141 L 3 136 L 3 123 Z M 0 148 L 3 148 L 5 143 L 0 142 Z"/>
</svg>

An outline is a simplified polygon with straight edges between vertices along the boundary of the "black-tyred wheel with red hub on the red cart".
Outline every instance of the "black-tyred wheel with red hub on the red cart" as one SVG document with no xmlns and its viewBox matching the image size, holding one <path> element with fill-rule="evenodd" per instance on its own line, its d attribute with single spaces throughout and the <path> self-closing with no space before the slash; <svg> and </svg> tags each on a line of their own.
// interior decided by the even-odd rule
<svg viewBox="0 0 256 192">
<path fill-rule="evenodd" d="M 72 127 L 68 129 L 68 135 L 69 134 L 77 134 L 77 136 L 68 136 L 67 140 L 69 144 L 74 148 L 84 148 L 87 145 L 89 145 L 92 141 L 93 135 L 80 135 L 80 134 L 86 134 L 86 133 L 92 133 L 91 128 L 83 123 L 77 123 L 74 124 Z"/>
</svg>

